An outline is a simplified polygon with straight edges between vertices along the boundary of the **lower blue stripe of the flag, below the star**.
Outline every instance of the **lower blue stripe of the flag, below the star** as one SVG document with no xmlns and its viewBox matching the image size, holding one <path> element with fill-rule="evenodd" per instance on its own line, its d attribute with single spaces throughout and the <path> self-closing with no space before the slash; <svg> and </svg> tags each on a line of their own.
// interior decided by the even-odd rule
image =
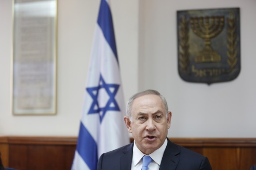
<svg viewBox="0 0 256 170">
<path fill-rule="evenodd" d="M 98 162 L 97 144 L 82 123 L 80 123 L 79 136 L 77 139 L 77 152 L 91 170 L 96 170 Z"/>
</svg>

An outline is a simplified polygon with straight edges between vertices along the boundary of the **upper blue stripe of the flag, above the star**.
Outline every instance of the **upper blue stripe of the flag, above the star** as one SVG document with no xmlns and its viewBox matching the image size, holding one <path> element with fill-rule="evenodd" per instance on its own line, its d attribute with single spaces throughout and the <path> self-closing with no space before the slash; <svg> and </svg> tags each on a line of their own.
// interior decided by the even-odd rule
<svg viewBox="0 0 256 170">
<path fill-rule="evenodd" d="M 101 0 L 98 16 L 98 24 L 102 29 L 106 41 L 109 43 L 118 63 L 117 48 L 114 35 L 112 15 L 106 0 Z"/>
</svg>

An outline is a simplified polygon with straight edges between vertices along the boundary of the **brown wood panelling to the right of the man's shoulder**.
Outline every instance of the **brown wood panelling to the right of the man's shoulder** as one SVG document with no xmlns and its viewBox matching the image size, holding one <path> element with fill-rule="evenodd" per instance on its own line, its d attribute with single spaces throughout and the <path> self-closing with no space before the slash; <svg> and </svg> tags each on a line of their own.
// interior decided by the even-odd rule
<svg viewBox="0 0 256 170">
<path fill-rule="evenodd" d="M 250 170 L 256 164 L 256 138 L 170 138 L 207 156 L 213 170 Z"/>
</svg>

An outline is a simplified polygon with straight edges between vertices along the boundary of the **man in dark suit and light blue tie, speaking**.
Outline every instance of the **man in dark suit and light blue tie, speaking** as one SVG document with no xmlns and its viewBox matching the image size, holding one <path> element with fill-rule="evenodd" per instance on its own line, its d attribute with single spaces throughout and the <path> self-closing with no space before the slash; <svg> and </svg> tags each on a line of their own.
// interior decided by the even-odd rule
<svg viewBox="0 0 256 170">
<path fill-rule="evenodd" d="M 102 154 L 98 170 L 212 170 L 206 157 L 168 140 L 172 113 L 159 92 L 136 93 L 128 100 L 126 114 L 134 142 Z"/>
</svg>

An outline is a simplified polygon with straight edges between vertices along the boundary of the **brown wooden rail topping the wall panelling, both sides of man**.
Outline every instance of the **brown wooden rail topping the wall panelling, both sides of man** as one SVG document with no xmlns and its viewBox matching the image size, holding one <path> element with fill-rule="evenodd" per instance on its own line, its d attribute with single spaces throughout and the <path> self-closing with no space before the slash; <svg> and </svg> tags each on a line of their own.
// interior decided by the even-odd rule
<svg viewBox="0 0 256 170">
<path fill-rule="evenodd" d="M 256 147 L 256 138 L 169 138 L 184 147 Z M 133 138 L 130 138 L 133 142 Z M 0 136 L 0 144 L 77 145 L 77 137 Z"/>
</svg>

